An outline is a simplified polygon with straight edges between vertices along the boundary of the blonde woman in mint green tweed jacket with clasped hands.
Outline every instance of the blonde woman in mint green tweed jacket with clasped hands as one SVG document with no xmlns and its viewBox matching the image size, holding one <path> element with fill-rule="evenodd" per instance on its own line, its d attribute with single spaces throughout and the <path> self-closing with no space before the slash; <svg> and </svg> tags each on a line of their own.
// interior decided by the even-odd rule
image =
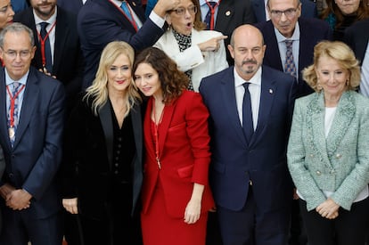
<svg viewBox="0 0 369 245">
<path fill-rule="evenodd" d="M 308 244 L 364 244 L 369 99 L 355 92 L 358 61 L 347 45 L 324 41 L 303 78 L 316 93 L 295 103 L 287 157 Z"/>
</svg>

